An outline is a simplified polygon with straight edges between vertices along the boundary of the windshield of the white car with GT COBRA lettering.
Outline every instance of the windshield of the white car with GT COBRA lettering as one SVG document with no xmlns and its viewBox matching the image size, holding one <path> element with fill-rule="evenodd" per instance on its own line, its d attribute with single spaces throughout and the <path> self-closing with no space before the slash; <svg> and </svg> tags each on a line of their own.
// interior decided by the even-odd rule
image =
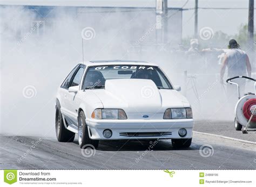
<svg viewBox="0 0 256 187">
<path fill-rule="evenodd" d="M 159 89 L 172 89 L 163 72 L 156 66 L 92 66 L 89 67 L 83 89 L 104 88 L 105 81 L 117 78 L 140 78 L 152 80 Z"/>
</svg>

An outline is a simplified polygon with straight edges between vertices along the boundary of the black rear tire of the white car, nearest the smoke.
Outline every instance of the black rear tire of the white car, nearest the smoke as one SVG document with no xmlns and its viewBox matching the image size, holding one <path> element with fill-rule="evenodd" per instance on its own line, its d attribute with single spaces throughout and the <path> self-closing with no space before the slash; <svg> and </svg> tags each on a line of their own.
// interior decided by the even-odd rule
<svg viewBox="0 0 256 187">
<path fill-rule="evenodd" d="M 72 142 L 75 138 L 75 133 L 67 130 L 64 126 L 60 107 L 57 106 L 55 114 L 55 130 L 57 140 L 60 142 Z"/>
</svg>

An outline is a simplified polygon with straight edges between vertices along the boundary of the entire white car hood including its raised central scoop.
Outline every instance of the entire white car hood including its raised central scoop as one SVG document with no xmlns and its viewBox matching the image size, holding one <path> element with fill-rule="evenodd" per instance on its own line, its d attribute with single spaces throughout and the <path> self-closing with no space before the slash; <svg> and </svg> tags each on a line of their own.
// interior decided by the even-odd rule
<svg viewBox="0 0 256 187">
<path fill-rule="evenodd" d="M 126 113 L 164 113 L 171 107 L 190 107 L 176 90 L 158 89 L 152 80 L 107 80 L 105 89 L 93 89 L 105 109 L 123 109 Z"/>
</svg>

